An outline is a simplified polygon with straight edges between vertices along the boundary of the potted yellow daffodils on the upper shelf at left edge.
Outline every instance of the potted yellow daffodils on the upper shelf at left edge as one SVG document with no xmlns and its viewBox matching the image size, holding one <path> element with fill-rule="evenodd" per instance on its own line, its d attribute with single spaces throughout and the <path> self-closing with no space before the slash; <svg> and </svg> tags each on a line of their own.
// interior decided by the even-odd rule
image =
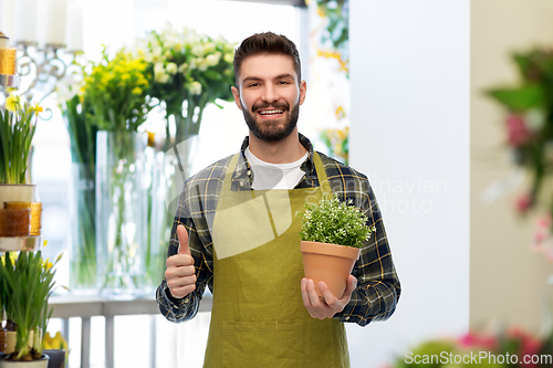
<svg viewBox="0 0 553 368">
<path fill-rule="evenodd" d="M 34 200 L 34 186 L 25 183 L 40 112 L 42 107 L 38 104 L 22 104 L 21 97 L 12 92 L 6 98 L 6 111 L 0 109 L 0 208 L 4 201 Z"/>
</svg>

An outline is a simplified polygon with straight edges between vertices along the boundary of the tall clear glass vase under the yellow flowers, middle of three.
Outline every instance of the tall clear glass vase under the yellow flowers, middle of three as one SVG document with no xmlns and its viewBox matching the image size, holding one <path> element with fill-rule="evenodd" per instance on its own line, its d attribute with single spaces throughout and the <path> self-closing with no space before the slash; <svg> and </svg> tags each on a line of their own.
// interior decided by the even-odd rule
<svg viewBox="0 0 553 368">
<path fill-rule="evenodd" d="M 97 133 L 96 260 L 104 295 L 144 293 L 146 141 L 146 135 L 139 133 Z"/>
</svg>

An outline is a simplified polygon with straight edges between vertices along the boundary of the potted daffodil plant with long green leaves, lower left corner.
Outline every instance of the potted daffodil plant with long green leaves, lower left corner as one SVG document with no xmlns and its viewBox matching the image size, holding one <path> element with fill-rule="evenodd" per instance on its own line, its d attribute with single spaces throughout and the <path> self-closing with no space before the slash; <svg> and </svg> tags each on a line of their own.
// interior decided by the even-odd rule
<svg viewBox="0 0 553 368">
<path fill-rule="evenodd" d="M 43 338 L 52 314 L 48 301 L 54 286 L 53 266 L 60 259 L 61 255 L 52 264 L 43 261 L 38 251 L 20 252 L 14 262 L 7 253 L 0 262 L 0 287 L 7 295 L 4 308 L 15 324 L 14 350 L 0 358 L 0 368 L 19 367 L 18 362 L 24 362 L 25 368 L 48 366 L 48 356 L 42 353 Z"/>
</svg>

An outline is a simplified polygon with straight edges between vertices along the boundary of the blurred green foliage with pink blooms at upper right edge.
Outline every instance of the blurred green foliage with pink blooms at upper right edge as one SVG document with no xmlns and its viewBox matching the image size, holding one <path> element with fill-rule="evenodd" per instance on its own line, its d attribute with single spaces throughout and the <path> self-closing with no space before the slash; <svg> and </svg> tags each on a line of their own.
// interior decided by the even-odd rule
<svg viewBox="0 0 553 368">
<path fill-rule="evenodd" d="M 553 51 L 538 48 L 514 53 L 511 59 L 519 81 L 484 92 L 505 111 L 505 140 L 511 157 L 532 178 L 528 193 L 518 201 L 519 212 L 544 202 L 551 215 L 552 191 L 543 183 L 553 177 Z"/>
</svg>

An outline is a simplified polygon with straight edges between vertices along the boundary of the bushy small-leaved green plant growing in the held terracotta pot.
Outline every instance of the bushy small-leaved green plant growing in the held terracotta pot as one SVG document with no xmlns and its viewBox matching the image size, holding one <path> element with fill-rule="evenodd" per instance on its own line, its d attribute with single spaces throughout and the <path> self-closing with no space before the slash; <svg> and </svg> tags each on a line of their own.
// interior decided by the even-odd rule
<svg viewBox="0 0 553 368">
<path fill-rule="evenodd" d="M 327 197 L 325 193 L 319 203 L 305 203 L 306 211 L 295 213 L 302 218 L 300 238 L 304 241 L 362 248 L 376 228 L 366 225 L 367 217 L 352 206 L 351 199 L 341 202 L 337 194 Z"/>
</svg>

